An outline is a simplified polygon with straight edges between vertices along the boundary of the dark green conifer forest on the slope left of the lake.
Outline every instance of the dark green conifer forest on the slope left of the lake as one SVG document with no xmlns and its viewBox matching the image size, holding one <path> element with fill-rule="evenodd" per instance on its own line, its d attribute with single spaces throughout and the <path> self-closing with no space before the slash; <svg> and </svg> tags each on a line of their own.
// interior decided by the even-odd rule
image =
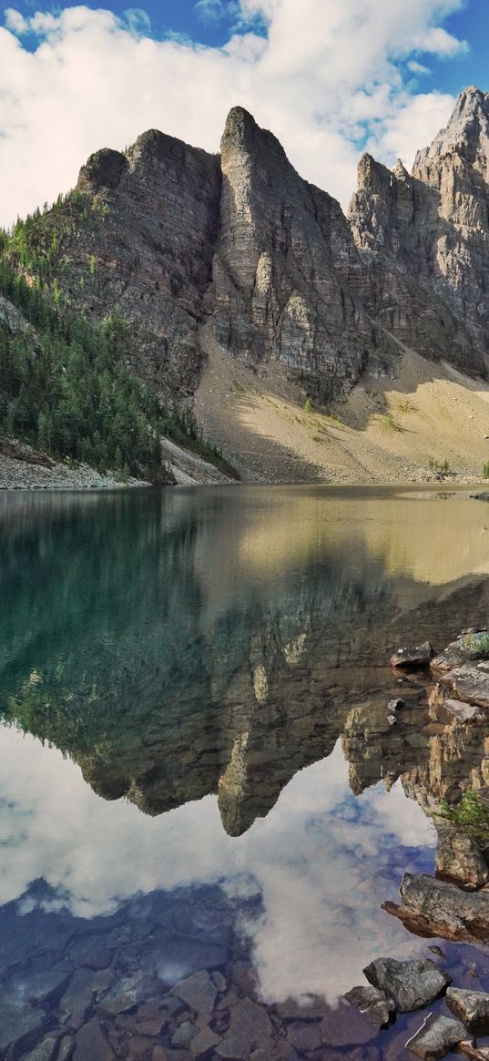
<svg viewBox="0 0 489 1061">
<path fill-rule="evenodd" d="M 74 203 L 80 207 L 76 196 Z M 110 315 L 94 325 L 70 308 L 52 274 L 55 231 L 49 254 L 30 238 L 43 225 L 45 214 L 37 212 L 18 222 L 12 234 L 0 232 L 0 295 L 31 326 L 12 332 L 0 321 L 0 435 L 49 456 L 110 470 L 122 482 L 132 474 L 158 480 L 160 437 L 167 435 L 235 475 L 204 441 L 191 413 L 170 411 L 154 386 L 126 368 L 132 345 L 126 321 Z M 63 259 L 58 266 L 63 272 Z M 22 269 L 35 274 L 28 273 L 29 282 Z M 89 272 L 97 272 L 94 259 Z"/>
</svg>

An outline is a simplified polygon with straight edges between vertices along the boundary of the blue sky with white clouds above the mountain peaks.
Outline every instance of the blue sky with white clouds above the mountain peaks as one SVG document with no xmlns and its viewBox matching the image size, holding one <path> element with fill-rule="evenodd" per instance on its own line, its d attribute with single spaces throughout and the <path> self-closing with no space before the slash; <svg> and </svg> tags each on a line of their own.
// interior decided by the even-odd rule
<svg viewBox="0 0 489 1061">
<path fill-rule="evenodd" d="M 217 151 L 235 104 L 344 209 L 364 150 L 409 168 L 489 89 L 488 0 L 0 3 L 0 224 L 147 128 Z"/>
</svg>

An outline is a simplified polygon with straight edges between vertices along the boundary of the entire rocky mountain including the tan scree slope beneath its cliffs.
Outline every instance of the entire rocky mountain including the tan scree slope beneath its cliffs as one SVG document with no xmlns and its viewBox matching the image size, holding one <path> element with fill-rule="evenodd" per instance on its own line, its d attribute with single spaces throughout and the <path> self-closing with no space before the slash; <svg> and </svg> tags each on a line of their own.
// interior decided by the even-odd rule
<svg viewBox="0 0 489 1061">
<path fill-rule="evenodd" d="M 73 192 L 4 237 L 2 258 L 62 317 L 121 323 L 124 368 L 168 408 L 193 407 L 244 479 L 369 481 L 379 453 L 384 475 L 405 477 L 427 465 L 433 423 L 421 410 L 416 453 L 384 437 L 407 434 L 417 410 L 399 399 L 392 413 L 390 385 L 402 398 L 454 369 L 487 387 L 488 123 L 489 94 L 469 88 L 412 174 L 364 155 L 348 218 L 242 107 L 220 155 L 150 131 L 90 156 Z M 487 405 L 458 407 L 477 437 L 447 433 L 441 452 L 475 470 Z"/>
</svg>

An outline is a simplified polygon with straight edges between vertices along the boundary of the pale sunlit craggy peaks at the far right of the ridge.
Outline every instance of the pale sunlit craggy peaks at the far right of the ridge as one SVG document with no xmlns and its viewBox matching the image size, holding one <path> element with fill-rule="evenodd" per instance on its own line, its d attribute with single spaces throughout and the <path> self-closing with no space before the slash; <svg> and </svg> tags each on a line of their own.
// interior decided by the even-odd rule
<svg viewBox="0 0 489 1061">
<path fill-rule="evenodd" d="M 468 88 L 411 175 L 363 156 L 349 210 L 376 318 L 472 373 L 489 349 L 488 180 L 489 94 Z"/>
</svg>

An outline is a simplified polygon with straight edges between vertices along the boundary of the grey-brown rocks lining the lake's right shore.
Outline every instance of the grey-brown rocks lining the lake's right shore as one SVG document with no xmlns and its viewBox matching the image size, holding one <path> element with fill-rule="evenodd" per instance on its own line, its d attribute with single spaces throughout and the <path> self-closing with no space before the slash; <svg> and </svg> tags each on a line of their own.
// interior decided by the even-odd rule
<svg viewBox="0 0 489 1061">
<path fill-rule="evenodd" d="M 399 648 L 391 666 L 407 675 L 430 668 L 433 685 L 430 709 L 436 726 L 452 727 L 462 740 L 468 730 L 487 721 L 489 714 L 489 633 L 486 628 L 464 630 L 448 647 L 435 655 L 430 642 Z M 401 698 L 387 705 L 387 719 L 397 725 L 405 710 Z M 437 830 L 436 876 L 405 873 L 401 903 L 385 902 L 383 909 L 399 918 L 405 927 L 424 938 L 489 943 L 489 851 L 485 836 L 489 822 L 487 793 L 469 792 L 466 818 L 450 814 L 449 804 L 434 812 Z M 458 802 L 464 793 L 458 793 Z M 457 806 L 457 799 L 454 800 Z M 446 820 L 443 820 L 443 818 Z M 447 820 L 448 819 L 448 820 Z M 477 835 L 477 831 L 479 835 Z M 430 949 L 443 958 L 437 945 Z M 474 1034 L 489 1036 L 489 993 L 452 986 L 452 977 L 435 961 L 397 961 L 380 958 L 364 969 L 368 980 L 353 988 L 347 999 L 367 1013 L 379 1028 L 388 1027 L 396 1013 L 416 1011 L 444 997 L 444 1011 L 430 1013 L 404 1046 L 431 1061 L 452 1049 L 475 1061 L 488 1061 L 489 1045 L 477 1043 Z M 474 968 L 474 976 L 478 973 Z"/>
</svg>

